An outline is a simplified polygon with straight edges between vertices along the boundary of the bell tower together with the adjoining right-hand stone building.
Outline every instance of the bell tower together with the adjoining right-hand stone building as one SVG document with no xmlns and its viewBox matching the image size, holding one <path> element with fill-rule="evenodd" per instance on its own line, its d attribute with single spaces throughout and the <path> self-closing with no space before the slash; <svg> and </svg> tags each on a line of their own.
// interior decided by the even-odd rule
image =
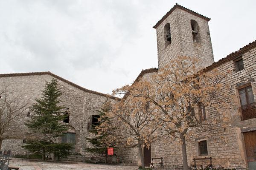
<svg viewBox="0 0 256 170">
<path fill-rule="evenodd" d="M 224 84 L 228 85 L 226 99 L 230 113 L 225 115 L 227 122 L 221 133 L 207 135 L 194 130 L 192 139 L 186 143 L 189 166 L 206 166 L 212 157 L 215 168 L 256 169 L 256 41 L 214 62 L 209 32 L 209 18 L 176 4 L 153 28 L 157 32 L 158 68 L 162 68 L 177 56 L 200 59 L 198 68 L 211 71 L 213 68 L 228 73 Z M 230 71 L 230 72 L 229 72 Z M 148 79 L 157 74 L 157 68 L 143 70 L 137 77 Z M 204 119 L 214 116 L 206 111 Z M 224 119 L 224 114 L 221 114 Z M 138 161 L 136 149 L 127 150 L 127 160 Z M 177 141 L 166 144 L 164 141 L 151 143 L 144 148 L 145 164 L 151 158 L 163 157 L 166 167 L 182 167 L 182 151 Z M 159 165 L 160 166 L 160 165 Z"/>
</svg>

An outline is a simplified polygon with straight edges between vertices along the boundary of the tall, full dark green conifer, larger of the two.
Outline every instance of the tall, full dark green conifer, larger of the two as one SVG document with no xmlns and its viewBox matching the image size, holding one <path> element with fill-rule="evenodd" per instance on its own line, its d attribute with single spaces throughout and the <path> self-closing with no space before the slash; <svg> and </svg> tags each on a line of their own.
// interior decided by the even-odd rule
<svg viewBox="0 0 256 170">
<path fill-rule="evenodd" d="M 57 79 L 46 82 L 41 95 L 41 99 L 35 99 L 30 109 L 34 114 L 26 123 L 32 133 L 38 134 L 38 139 L 28 140 L 24 148 L 32 153 L 41 153 L 43 160 L 46 154 L 51 153 L 56 158 L 66 157 L 73 144 L 58 143 L 58 138 L 68 127 L 62 123 L 66 115 L 62 112 L 64 107 L 60 105 L 62 92 L 58 88 Z"/>
</svg>

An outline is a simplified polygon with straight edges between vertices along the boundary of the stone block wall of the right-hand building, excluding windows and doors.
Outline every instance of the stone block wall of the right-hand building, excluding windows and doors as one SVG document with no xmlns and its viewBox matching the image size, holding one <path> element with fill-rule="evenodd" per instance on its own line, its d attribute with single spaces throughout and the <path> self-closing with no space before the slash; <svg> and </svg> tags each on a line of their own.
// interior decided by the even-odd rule
<svg viewBox="0 0 256 170">
<path fill-rule="evenodd" d="M 193 164 L 193 158 L 211 156 L 215 167 L 247 168 L 247 157 L 242 132 L 256 130 L 256 118 L 241 121 L 241 112 L 238 109 L 241 107 L 238 89 L 244 87 L 244 85 L 251 85 L 254 100 L 256 101 L 256 48 L 247 51 L 241 57 L 244 61 L 244 69 L 241 71 L 236 71 L 236 65 L 233 60 L 217 67 L 218 71 L 222 73 L 231 71 L 224 80 L 224 84 L 229 87 L 227 91 L 229 95 L 225 97 L 227 102 L 231 103 L 231 106 L 228 112 L 221 113 L 221 119 L 225 116 L 228 120 L 225 120 L 225 128 L 219 131 L 219 133 L 211 133 L 209 135 L 209 133 L 203 130 L 193 130 L 192 138 L 186 143 L 189 166 Z M 150 75 L 145 74 L 143 79 L 149 79 Z M 214 116 L 216 116 L 216 113 L 207 111 L 208 120 Z M 198 142 L 201 140 L 207 140 L 208 155 L 206 156 L 199 156 L 198 153 Z M 151 158 L 153 157 L 163 157 L 165 166 L 181 167 L 183 165 L 181 145 L 178 141 L 169 141 L 169 143 L 158 141 L 151 144 Z"/>
</svg>

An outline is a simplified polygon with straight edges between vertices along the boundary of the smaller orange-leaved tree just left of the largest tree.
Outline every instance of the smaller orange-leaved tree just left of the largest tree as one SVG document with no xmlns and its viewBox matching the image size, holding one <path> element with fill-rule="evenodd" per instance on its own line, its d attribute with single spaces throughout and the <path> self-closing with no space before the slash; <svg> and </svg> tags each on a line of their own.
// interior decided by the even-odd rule
<svg viewBox="0 0 256 170">
<path fill-rule="evenodd" d="M 99 133 L 109 134 L 106 139 L 108 142 L 115 142 L 125 148 L 137 147 L 143 168 L 143 148 L 149 147 L 154 141 L 152 134 L 157 130 L 151 125 L 154 123 L 154 108 L 150 108 L 149 105 L 149 102 L 134 97 L 114 103 L 111 111 L 105 113 L 108 122 L 103 122 L 99 126 Z"/>
</svg>

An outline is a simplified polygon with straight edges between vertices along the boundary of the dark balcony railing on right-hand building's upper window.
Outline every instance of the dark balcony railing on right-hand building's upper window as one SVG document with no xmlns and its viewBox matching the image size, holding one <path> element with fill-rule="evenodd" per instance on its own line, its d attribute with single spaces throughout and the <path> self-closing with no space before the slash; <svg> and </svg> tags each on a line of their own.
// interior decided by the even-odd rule
<svg viewBox="0 0 256 170">
<path fill-rule="evenodd" d="M 251 103 L 249 105 L 243 105 L 239 110 L 242 113 L 242 120 L 256 118 L 256 103 Z"/>
</svg>

